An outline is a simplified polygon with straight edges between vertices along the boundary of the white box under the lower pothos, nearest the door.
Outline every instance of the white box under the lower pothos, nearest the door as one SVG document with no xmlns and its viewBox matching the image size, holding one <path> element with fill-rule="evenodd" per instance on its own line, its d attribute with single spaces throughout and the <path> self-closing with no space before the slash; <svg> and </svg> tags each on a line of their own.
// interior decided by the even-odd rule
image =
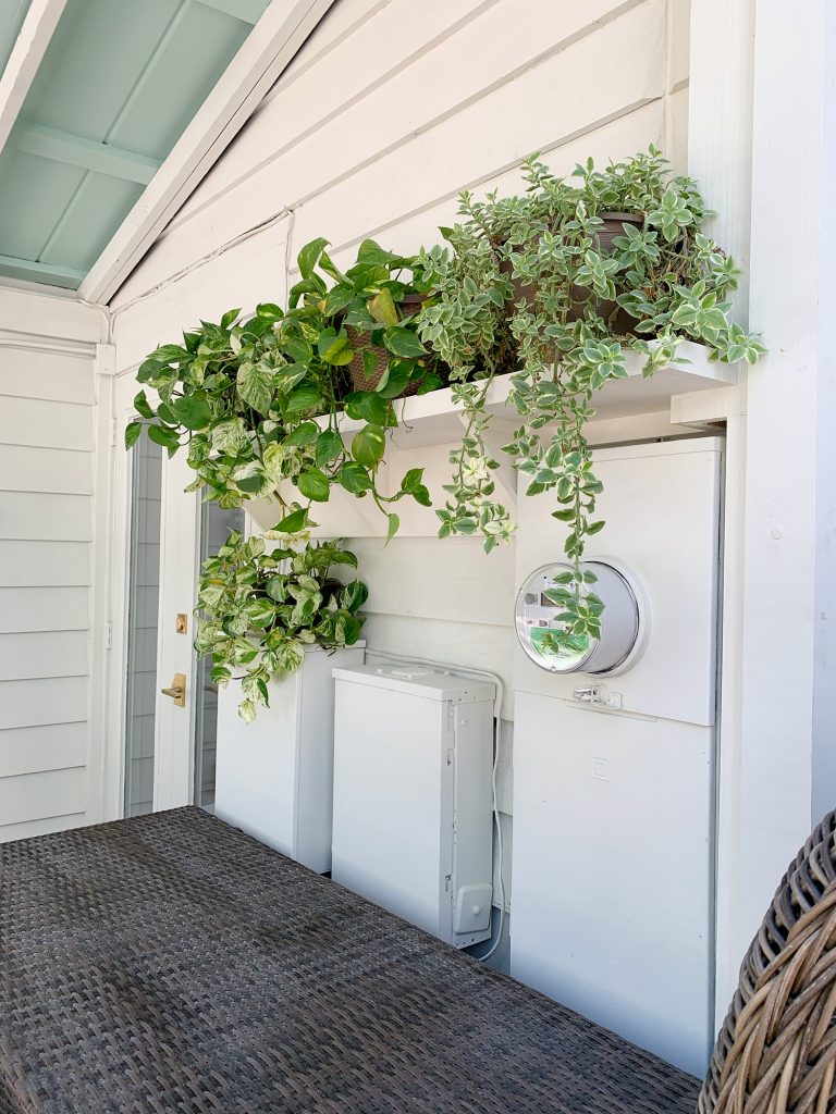
<svg viewBox="0 0 836 1114">
<path fill-rule="evenodd" d="M 331 869 L 331 672 L 362 665 L 364 645 L 311 646 L 300 670 L 271 684 L 254 723 L 237 714 L 237 682 L 217 696 L 216 815 L 319 873 Z"/>
</svg>

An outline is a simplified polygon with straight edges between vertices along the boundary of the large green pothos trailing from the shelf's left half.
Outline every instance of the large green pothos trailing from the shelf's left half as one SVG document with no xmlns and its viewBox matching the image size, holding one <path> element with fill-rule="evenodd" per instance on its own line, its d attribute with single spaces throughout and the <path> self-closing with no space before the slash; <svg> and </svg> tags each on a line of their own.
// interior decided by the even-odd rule
<svg viewBox="0 0 836 1114">
<path fill-rule="evenodd" d="M 397 309 L 409 291 L 393 277 L 405 262 L 369 241 L 343 275 L 324 241 L 307 245 L 286 312 L 264 303 L 241 321 L 231 310 L 218 323 L 202 322 L 184 333 L 182 344 L 163 344 L 147 356 L 137 372 L 139 420 L 128 424 L 126 446 L 145 429 L 169 453 L 185 451 L 195 471 L 188 490 L 203 489 L 222 507 L 274 499 L 275 529 L 282 534 L 315 525 L 311 508 L 327 502 L 338 486 L 370 497 L 392 537 L 400 525 L 395 504 L 406 497 L 425 506 L 430 500 L 422 469 L 407 471 L 393 495 L 378 486 L 386 431 L 397 424 L 391 400 L 411 382 L 421 389 L 437 382 L 415 315 L 401 316 Z M 323 273 L 337 283 L 330 292 Z M 373 389 L 343 389 L 341 370 L 358 355 L 349 326 L 368 332 L 389 353 Z M 363 360 L 369 355 L 358 352 Z M 348 443 L 339 430 L 342 411 L 362 422 Z"/>
</svg>

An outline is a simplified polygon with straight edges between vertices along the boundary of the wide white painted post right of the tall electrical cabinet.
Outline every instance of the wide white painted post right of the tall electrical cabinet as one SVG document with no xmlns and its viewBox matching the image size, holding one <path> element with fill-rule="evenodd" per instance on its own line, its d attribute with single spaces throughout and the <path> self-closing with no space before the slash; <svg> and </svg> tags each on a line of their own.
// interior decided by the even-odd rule
<svg viewBox="0 0 836 1114">
<path fill-rule="evenodd" d="M 836 803 L 835 388 L 825 333 L 836 316 L 826 126 L 835 32 L 828 0 L 810 0 L 804 19 L 780 0 L 693 6 L 691 173 L 723 213 L 718 240 L 743 263 L 751 198 L 748 316 L 770 350 L 747 377 L 746 417 L 729 424 L 718 1020 L 813 812 Z"/>
</svg>

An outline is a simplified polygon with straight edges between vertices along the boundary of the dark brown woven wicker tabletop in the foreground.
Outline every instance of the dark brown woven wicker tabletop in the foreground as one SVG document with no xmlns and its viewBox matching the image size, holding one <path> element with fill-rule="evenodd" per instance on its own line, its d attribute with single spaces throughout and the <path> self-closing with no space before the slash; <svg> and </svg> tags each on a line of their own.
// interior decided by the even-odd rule
<svg viewBox="0 0 836 1114">
<path fill-rule="evenodd" d="M 0 847 L 3 1114 L 692 1114 L 699 1084 L 195 809 Z"/>
</svg>

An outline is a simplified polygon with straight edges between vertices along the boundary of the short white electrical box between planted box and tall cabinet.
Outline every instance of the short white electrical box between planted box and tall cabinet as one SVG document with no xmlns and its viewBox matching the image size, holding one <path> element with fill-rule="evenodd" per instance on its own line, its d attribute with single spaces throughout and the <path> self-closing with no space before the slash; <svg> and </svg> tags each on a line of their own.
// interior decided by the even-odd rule
<svg viewBox="0 0 836 1114">
<path fill-rule="evenodd" d="M 495 686 L 334 670 L 332 877 L 457 948 L 490 936 Z"/>
</svg>

